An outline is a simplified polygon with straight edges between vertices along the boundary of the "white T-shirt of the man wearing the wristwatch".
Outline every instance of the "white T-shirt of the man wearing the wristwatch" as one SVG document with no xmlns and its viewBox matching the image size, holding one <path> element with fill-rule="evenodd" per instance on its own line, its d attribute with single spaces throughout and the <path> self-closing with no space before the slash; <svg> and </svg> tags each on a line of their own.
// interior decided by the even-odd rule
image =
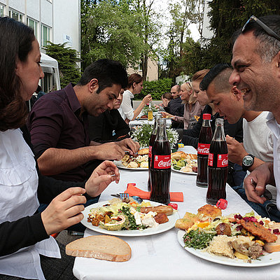
<svg viewBox="0 0 280 280">
<path fill-rule="evenodd" d="M 264 111 L 251 122 L 243 119 L 243 144 L 246 152 L 264 162 L 273 162 L 273 134 L 266 124 L 267 114 Z M 276 203 L 276 188 L 270 185 L 266 188 L 272 193 L 272 202 Z"/>
</svg>

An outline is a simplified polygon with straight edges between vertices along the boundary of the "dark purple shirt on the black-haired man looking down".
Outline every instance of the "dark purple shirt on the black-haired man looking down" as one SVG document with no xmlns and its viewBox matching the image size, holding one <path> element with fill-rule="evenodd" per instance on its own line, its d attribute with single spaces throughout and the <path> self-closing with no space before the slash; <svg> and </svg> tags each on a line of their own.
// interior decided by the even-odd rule
<svg viewBox="0 0 280 280">
<path fill-rule="evenodd" d="M 80 108 L 71 84 L 36 101 L 27 121 L 36 158 L 48 148 L 71 150 L 90 145 L 87 113 L 80 116 Z M 85 181 L 99 163 L 94 160 L 52 177 L 62 181 Z"/>
</svg>

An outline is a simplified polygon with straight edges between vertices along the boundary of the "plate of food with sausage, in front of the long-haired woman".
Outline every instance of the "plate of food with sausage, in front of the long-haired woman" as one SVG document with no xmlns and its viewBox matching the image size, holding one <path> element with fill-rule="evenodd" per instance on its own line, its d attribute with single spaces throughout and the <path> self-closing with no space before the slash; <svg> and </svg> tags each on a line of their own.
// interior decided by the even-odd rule
<svg viewBox="0 0 280 280">
<path fill-rule="evenodd" d="M 114 198 L 92 204 L 85 207 L 83 215 L 81 223 L 86 228 L 123 237 L 157 235 L 174 228 L 179 218 L 171 206 L 147 200 L 137 204 L 131 197 L 128 203 Z"/>
</svg>

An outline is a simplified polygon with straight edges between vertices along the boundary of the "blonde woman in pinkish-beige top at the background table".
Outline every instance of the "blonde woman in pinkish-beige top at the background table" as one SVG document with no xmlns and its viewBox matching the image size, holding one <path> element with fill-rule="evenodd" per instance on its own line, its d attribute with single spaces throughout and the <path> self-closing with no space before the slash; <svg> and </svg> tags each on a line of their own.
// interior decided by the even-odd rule
<svg viewBox="0 0 280 280">
<path fill-rule="evenodd" d="M 180 99 L 181 102 L 184 104 L 183 117 L 173 116 L 172 114 L 165 112 L 162 112 L 162 116 L 164 118 L 172 118 L 173 120 L 179 123 L 183 122 L 183 128 L 187 130 L 190 124 L 190 120 L 194 116 L 200 116 L 200 113 L 202 112 L 202 109 L 204 109 L 204 107 L 200 106 L 200 103 L 197 102 L 196 97 L 193 96 L 193 88 L 190 85 L 190 83 L 183 83 L 181 85 Z"/>
</svg>

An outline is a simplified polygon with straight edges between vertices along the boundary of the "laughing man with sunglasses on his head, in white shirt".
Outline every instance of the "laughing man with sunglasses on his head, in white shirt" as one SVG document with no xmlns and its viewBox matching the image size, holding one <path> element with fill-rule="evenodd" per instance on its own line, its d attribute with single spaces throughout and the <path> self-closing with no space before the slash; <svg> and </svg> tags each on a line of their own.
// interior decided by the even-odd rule
<svg viewBox="0 0 280 280">
<path fill-rule="evenodd" d="M 263 204 L 267 184 L 276 186 L 280 210 L 280 15 L 252 16 L 235 34 L 230 84 L 244 93 L 244 108 L 269 111 L 274 134 L 274 162 L 257 167 L 244 181 L 248 200 Z"/>
</svg>

